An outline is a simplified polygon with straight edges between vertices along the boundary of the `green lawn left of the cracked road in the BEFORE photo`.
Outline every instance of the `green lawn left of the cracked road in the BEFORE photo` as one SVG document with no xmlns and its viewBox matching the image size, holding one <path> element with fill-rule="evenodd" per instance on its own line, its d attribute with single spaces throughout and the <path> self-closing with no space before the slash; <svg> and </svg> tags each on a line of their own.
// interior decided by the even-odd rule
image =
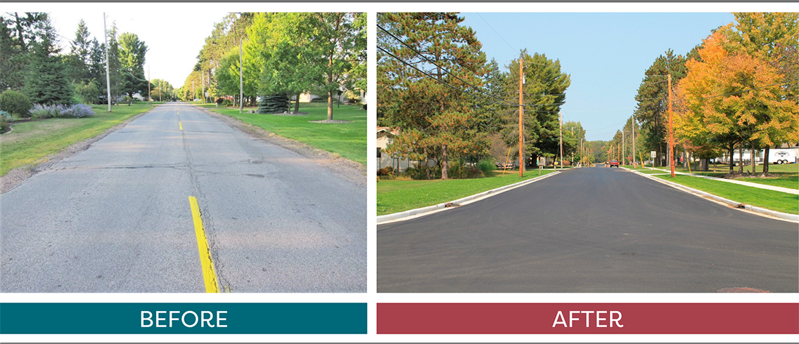
<svg viewBox="0 0 799 344">
<path fill-rule="evenodd" d="M 100 135 L 151 108 L 141 103 L 113 106 L 111 113 L 107 112 L 107 105 L 93 105 L 92 109 L 95 113 L 92 117 L 50 118 L 12 125 L 12 132 L 0 135 L 0 176 L 27 164 L 40 164 L 46 161 L 46 156 Z"/>
</svg>

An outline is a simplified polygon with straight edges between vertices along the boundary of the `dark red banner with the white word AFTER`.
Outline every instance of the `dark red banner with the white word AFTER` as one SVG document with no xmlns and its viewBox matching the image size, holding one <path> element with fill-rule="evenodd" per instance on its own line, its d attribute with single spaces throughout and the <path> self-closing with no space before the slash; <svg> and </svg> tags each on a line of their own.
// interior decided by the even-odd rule
<svg viewBox="0 0 799 344">
<path fill-rule="evenodd" d="M 799 334 L 799 303 L 378 303 L 378 334 Z"/>
</svg>

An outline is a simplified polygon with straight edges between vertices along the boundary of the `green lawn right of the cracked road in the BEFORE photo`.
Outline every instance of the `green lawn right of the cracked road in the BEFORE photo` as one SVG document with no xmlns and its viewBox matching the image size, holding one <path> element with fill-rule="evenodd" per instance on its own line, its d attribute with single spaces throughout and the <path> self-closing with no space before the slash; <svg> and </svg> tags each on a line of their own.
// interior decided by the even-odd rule
<svg viewBox="0 0 799 344">
<path fill-rule="evenodd" d="M 308 116 L 239 113 L 238 108 L 216 108 L 213 105 L 207 109 L 366 165 L 366 111 L 358 105 L 333 107 L 334 120 L 352 121 L 350 123 L 309 122 L 328 119 L 325 103 L 300 103 L 300 113 L 308 113 Z"/>
</svg>

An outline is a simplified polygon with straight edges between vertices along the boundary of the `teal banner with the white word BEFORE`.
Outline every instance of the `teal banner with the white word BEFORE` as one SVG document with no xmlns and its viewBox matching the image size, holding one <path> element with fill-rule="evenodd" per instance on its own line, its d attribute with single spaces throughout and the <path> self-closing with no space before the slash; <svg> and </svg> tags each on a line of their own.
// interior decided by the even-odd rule
<svg viewBox="0 0 799 344">
<path fill-rule="evenodd" d="M 366 334 L 366 303 L 0 303 L 0 334 Z"/>
</svg>

